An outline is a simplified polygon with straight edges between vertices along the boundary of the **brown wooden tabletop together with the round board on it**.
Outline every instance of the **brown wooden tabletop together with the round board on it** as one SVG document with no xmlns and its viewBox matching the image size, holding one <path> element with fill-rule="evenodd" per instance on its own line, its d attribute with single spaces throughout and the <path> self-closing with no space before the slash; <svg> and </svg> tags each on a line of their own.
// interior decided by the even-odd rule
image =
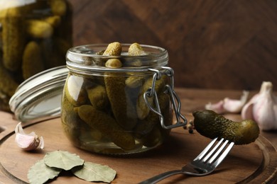
<svg viewBox="0 0 277 184">
<path fill-rule="evenodd" d="M 182 113 L 192 120 L 192 111 L 204 108 L 209 102 L 224 97 L 239 98 L 241 91 L 216 91 L 177 88 L 182 102 Z M 253 93 L 251 93 L 253 94 Z M 240 115 L 225 115 L 240 120 Z M 80 155 L 85 161 L 108 165 L 116 170 L 112 183 L 139 183 L 165 171 L 181 168 L 193 159 L 210 142 L 196 131 L 189 134 L 182 127 L 172 130 L 162 146 L 135 156 L 105 156 L 77 149 L 68 142 L 61 130 L 60 119 L 25 124 L 26 132 L 34 131 L 45 139 L 45 149 L 26 152 L 14 142 L 17 121 L 9 113 L 0 112 L 0 181 L 3 183 L 28 183 L 27 173 L 46 152 L 63 150 Z M 214 173 L 204 177 L 171 176 L 161 183 L 274 183 L 277 180 L 277 132 L 261 132 L 256 142 L 234 146 L 227 158 Z M 0 183 L 1 183 L 0 182 Z M 62 173 L 52 183 L 87 183 L 68 173 Z"/>
</svg>

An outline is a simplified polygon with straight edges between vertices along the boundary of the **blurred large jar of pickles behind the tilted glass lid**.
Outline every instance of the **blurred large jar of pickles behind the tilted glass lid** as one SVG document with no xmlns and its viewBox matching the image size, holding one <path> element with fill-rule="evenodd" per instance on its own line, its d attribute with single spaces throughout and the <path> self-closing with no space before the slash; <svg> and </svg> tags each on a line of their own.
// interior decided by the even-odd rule
<svg viewBox="0 0 277 184">
<path fill-rule="evenodd" d="M 0 110 L 21 82 L 65 65 L 72 47 L 72 6 L 66 0 L 0 0 Z"/>
</svg>

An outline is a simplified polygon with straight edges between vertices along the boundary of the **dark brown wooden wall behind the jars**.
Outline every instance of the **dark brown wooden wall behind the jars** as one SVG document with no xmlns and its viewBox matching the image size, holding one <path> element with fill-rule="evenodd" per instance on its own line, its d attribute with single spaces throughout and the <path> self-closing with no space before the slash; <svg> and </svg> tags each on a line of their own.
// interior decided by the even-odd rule
<svg viewBox="0 0 277 184">
<path fill-rule="evenodd" d="M 74 45 L 165 47 L 175 86 L 277 86 L 276 0 L 70 0 Z M 275 88 L 276 89 L 276 88 Z"/>
</svg>

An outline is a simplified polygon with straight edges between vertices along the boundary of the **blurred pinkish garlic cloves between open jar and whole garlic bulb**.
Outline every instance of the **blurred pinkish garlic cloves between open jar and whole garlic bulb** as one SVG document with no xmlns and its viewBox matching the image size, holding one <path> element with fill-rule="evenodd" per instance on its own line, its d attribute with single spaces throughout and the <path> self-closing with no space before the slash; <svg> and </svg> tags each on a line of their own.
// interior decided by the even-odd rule
<svg viewBox="0 0 277 184">
<path fill-rule="evenodd" d="M 208 103 L 205 105 L 207 110 L 213 110 L 217 114 L 222 113 L 240 113 L 241 109 L 245 105 L 249 91 L 242 91 L 241 98 L 239 100 L 224 98 L 217 103 Z"/>
</svg>

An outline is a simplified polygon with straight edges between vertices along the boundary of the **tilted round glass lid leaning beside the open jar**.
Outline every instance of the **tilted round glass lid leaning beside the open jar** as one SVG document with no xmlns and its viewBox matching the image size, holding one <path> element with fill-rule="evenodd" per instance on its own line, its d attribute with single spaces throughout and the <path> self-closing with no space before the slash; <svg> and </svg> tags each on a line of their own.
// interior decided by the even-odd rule
<svg viewBox="0 0 277 184">
<path fill-rule="evenodd" d="M 18 86 L 9 101 L 16 119 L 33 122 L 58 117 L 67 73 L 66 66 L 55 67 L 30 77 Z"/>
</svg>

